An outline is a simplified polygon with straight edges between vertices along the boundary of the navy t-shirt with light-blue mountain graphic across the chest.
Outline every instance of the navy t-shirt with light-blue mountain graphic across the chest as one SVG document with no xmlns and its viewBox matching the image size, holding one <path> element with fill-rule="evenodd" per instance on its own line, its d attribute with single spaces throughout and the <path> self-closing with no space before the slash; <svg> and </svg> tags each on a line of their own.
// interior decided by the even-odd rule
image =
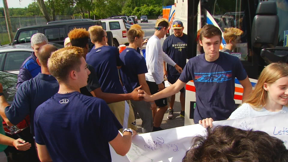
<svg viewBox="0 0 288 162">
<path fill-rule="evenodd" d="M 246 71 L 235 56 L 220 52 L 219 58 L 213 62 L 206 61 L 205 54 L 191 58 L 179 79 L 185 83 L 194 81 L 194 123 L 206 118 L 214 121 L 228 119 L 235 110 L 235 78 L 242 81 L 246 77 Z"/>
</svg>

